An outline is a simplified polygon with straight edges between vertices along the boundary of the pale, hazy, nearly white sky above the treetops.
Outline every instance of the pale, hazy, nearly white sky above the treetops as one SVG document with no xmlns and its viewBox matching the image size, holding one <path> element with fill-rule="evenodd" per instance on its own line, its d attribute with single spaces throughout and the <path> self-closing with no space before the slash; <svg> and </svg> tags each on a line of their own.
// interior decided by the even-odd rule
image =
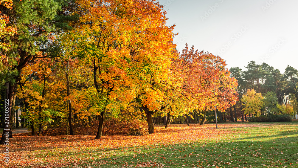
<svg viewBox="0 0 298 168">
<path fill-rule="evenodd" d="M 175 24 L 177 49 L 185 43 L 219 55 L 227 68 L 267 63 L 298 69 L 297 0 L 158 0 Z"/>
</svg>

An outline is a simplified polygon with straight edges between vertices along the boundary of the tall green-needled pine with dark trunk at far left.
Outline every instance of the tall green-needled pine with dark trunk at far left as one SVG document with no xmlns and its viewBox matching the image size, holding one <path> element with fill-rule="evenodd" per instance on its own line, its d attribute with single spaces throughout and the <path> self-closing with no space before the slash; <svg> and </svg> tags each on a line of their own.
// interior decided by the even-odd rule
<svg viewBox="0 0 298 168">
<path fill-rule="evenodd" d="M 66 5 L 68 4 L 64 0 L 20 1 L 14 3 L 13 10 L 6 11 L 6 16 L 9 17 L 10 21 L 7 26 L 15 26 L 18 30 L 17 34 L 6 38 L 6 43 L 11 46 L 11 49 L 5 51 L 4 54 L 7 57 L 7 65 L 9 65 L 7 71 L 13 72 L 13 75 L 10 76 L 11 80 L 7 81 L 7 86 L 9 86 L 8 99 L 11 105 L 14 104 L 16 82 L 20 82 L 22 69 L 38 58 L 49 56 L 48 54 L 41 56 L 39 52 L 55 51 L 57 45 L 52 40 L 55 34 L 71 28 L 67 22 L 74 18 L 67 16 L 69 15 L 67 13 L 57 14 L 57 11 Z M 11 114 L 12 107 L 9 108 L 9 114 Z M 0 141 L 2 144 L 4 143 L 3 138 L 4 135 Z"/>
</svg>

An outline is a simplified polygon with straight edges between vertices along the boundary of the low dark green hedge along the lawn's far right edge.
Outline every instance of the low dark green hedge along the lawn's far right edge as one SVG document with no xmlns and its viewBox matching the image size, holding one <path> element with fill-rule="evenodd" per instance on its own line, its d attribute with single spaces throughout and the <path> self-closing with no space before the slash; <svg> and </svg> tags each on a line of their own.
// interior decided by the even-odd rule
<svg viewBox="0 0 298 168">
<path fill-rule="evenodd" d="M 260 117 L 249 117 L 249 122 L 287 122 L 287 121 L 292 121 L 292 116 L 289 114 L 279 114 L 279 115 L 270 114 L 268 116 L 260 115 Z"/>
</svg>

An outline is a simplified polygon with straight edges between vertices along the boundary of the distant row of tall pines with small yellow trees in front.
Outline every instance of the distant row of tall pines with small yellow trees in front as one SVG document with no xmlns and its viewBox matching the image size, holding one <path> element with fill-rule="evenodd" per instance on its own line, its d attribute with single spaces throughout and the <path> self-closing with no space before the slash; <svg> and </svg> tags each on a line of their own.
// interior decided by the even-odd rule
<svg viewBox="0 0 298 168">
<path fill-rule="evenodd" d="M 247 114 L 258 117 L 255 121 L 270 121 L 274 114 L 288 114 L 296 119 L 298 71 L 288 65 L 281 74 L 266 63 L 258 65 L 254 61 L 245 68 L 230 68 L 231 76 L 238 80 L 239 101 L 234 116 L 244 121 L 243 115 Z"/>
</svg>

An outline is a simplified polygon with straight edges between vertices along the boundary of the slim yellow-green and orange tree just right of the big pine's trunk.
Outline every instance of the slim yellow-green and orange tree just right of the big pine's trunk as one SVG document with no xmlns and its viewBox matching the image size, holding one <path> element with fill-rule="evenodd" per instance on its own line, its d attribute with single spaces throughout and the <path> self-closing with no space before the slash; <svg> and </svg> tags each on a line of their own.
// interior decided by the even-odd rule
<svg viewBox="0 0 298 168">
<path fill-rule="evenodd" d="M 22 117 L 30 122 L 32 135 L 35 135 L 34 127 L 38 127 L 40 135 L 41 129 L 53 121 L 52 116 L 61 115 L 48 108 L 48 104 L 52 104 L 48 100 L 50 93 L 54 93 L 53 85 L 60 85 L 52 79 L 53 71 L 55 62 L 50 58 L 41 58 L 24 67 L 21 74 L 22 84 L 18 98 L 24 99 L 25 109 Z"/>
</svg>

